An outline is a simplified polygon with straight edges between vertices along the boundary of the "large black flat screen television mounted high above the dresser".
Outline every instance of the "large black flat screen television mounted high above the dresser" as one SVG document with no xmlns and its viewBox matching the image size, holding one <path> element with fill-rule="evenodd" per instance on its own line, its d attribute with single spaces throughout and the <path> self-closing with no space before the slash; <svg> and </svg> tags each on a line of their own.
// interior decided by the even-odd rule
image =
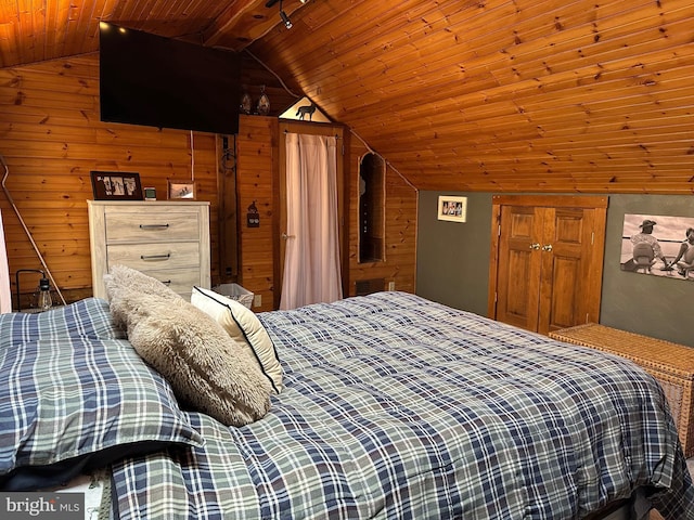
<svg viewBox="0 0 694 520">
<path fill-rule="evenodd" d="M 241 56 L 100 24 L 101 120 L 239 132 Z"/>
</svg>

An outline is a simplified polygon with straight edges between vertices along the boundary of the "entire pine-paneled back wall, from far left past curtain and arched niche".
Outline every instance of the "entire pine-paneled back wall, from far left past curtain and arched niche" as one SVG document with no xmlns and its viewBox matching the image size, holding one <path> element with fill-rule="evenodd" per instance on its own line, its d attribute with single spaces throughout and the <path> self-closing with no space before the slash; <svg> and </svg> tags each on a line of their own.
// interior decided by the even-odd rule
<svg viewBox="0 0 694 520">
<path fill-rule="evenodd" d="M 247 60 L 246 60 L 247 61 Z M 295 98 L 282 93 L 277 80 L 253 63 L 245 63 L 249 90 L 268 84 L 273 115 Z M 261 296 L 272 309 L 274 296 L 273 219 L 278 165 L 277 117 L 242 116 L 236 138 L 236 202 L 240 218 L 239 282 Z M 357 280 L 384 277 L 396 288 L 414 290 L 416 191 L 391 168 L 386 179 L 386 260 L 360 264 L 357 245 L 357 190 L 359 160 L 367 148 L 357 139 L 348 150 L 350 294 Z M 194 154 L 192 161 L 191 154 Z M 66 300 L 91 296 L 91 268 L 87 203 L 92 198 L 91 170 L 137 171 L 142 184 L 154 186 L 166 198 L 167 179 L 190 179 L 194 164 L 197 198 L 210 202 L 213 284 L 232 282 L 219 268 L 218 219 L 222 197 L 219 170 L 222 154 L 215 134 L 157 130 L 99 120 L 99 60 L 90 54 L 0 69 L 0 154 L 10 174 L 5 186 L 27 224 Z M 245 226 L 248 206 L 260 212 L 258 229 Z M 0 209 L 5 224 L 10 273 L 41 269 L 39 259 L 4 194 Z M 228 217 L 227 210 L 224 216 Z M 222 219 L 224 218 L 222 216 Z M 227 239 L 227 238 L 223 238 Z M 224 255 L 222 255 L 223 257 Z M 223 261 L 223 259 L 222 259 Z M 38 278 L 21 278 L 30 292 Z M 14 294 L 14 287 L 13 287 Z M 25 307 L 25 303 L 23 303 Z M 16 304 L 15 304 L 16 308 Z"/>
</svg>

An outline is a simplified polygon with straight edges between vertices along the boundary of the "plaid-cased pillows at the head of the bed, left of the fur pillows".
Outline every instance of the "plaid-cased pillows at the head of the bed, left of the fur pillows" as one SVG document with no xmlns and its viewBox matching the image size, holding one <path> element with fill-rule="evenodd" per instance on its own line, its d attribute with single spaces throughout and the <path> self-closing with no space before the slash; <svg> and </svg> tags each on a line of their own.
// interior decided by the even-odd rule
<svg viewBox="0 0 694 520">
<path fill-rule="evenodd" d="M 171 443 L 203 439 L 104 300 L 0 314 L 0 490 L 51 487 Z"/>
</svg>

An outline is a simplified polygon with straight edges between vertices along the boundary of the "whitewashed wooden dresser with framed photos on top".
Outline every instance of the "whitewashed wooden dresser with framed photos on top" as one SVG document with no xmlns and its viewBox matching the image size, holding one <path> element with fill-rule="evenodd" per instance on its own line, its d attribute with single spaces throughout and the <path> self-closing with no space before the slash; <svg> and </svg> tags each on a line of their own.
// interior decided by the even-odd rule
<svg viewBox="0 0 694 520">
<path fill-rule="evenodd" d="M 209 203 L 87 200 L 93 295 L 115 264 L 137 269 L 187 300 L 209 288 Z"/>
</svg>

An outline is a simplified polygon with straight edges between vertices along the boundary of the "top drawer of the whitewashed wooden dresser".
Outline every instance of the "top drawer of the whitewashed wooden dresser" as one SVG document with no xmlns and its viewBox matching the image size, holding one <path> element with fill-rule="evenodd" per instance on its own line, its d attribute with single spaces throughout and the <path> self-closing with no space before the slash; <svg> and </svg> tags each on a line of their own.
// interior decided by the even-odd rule
<svg viewBox="0 0 694 520">
<path fill-rule="evenodd" d="M 197 240 L 197 211 L 111 211 L 105 216 L 106 244 Z"/>
</svg>

